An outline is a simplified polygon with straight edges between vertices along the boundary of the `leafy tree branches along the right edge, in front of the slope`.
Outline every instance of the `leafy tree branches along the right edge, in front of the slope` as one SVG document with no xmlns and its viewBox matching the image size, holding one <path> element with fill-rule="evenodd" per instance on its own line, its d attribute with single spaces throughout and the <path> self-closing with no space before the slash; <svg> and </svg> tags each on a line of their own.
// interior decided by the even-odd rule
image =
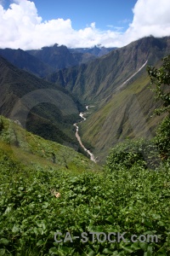
<svg viewBox="0 0 170 256">
<path fill-rule="evenodd" d="M 161 108 L 155 113 L 167 113 L 161 124 L 157 127 L 155 143 L 163 160 L 170 157 L 170 55 L 162 59 L 160 68 L 147 67 L 150 84 L 155 85 L 156 100 L 161 100 Z"/>
</svg>

